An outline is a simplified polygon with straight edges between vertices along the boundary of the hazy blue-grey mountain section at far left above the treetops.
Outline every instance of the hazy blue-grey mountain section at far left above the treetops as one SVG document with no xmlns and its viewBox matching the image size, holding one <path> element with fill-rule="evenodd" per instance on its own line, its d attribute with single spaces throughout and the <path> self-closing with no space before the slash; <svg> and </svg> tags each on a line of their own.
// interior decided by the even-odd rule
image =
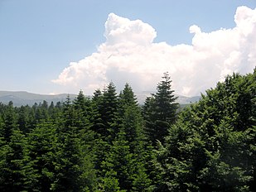
<svg viewBox="0 0 256 192">
<path fill-rule="evenodd" d="M 75 94 L 56 94 L 56 95 L 48 95 L 48 94 L 31 94 L 26 91 L 0 91 L 0 102 L 1 103 L 9 103 L 13 102 L 14 106 L 22 106 L 22 105 L 33 105 L 35 103 L 42 103 L 44 100 L 47 103 L 57 103 L 64 102 L 67 96 L 70 95 L 70 98 L 75 98 Z"/>
</svg>

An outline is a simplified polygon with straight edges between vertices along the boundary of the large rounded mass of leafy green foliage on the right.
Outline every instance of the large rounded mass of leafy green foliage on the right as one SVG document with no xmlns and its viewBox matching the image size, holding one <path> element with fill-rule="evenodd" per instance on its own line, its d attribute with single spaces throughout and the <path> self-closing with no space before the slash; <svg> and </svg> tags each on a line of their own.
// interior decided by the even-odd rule
<svg viewBox="0 0 256 192">
<path fill-rule="evenodd" d="M 159 188 L 255 190 L 255 75 L 228 76 L 181 113 L 158 150 Z"/>
</svg>

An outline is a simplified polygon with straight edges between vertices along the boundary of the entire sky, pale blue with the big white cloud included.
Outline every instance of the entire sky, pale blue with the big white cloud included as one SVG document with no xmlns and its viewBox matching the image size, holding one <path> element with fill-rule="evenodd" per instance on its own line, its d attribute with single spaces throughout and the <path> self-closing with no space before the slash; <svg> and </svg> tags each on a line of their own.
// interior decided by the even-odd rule
<svg viewBox="0 0 256 192">
<path fill-rule="evenodd" d="M 0 90 L 196 96 L 256 66 L 256 0 L 0 0 Z"/>
</svg>

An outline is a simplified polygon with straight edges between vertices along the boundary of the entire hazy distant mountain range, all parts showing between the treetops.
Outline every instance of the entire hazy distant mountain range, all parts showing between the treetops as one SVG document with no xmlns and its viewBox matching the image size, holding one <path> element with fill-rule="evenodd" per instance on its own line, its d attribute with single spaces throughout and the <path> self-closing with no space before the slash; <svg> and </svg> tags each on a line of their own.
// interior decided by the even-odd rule
<svg viewBox="0 0 256 192">
<path fill-rule="evenodd" d="M 137 93 L 136 96 L 138 98 L 138 103 L 142 104 L 144 103 L 145 99 L 149 96 L 151 96 L 153 92 L 150 91 L 144 91 L 142 93 Z M 13 102 L 14 106 L 22 106 L 22 105 L 33 105 L 35 103 L 42 103 L 44 100 L 47 103 L 57 103 L 57 102 L 65 102 L 65 99 L 67 96 L 70 95 L 71 99 L 74 99 L 76 97 L 75 94 L 56 94 L 56 95 L 50 95 L 50 94 L 31 94 L 26 91 L 0 91 L 0 102 L 1 103 L 9 103 L 10 101 Z M 199 101 L 200 96 L 196 97 L 185 97 L 181 95 L 177 95 L 178 99 L 177 102 L 180 104 L 189 104 L 189 103 L 195 103 Z"/>
</svg>

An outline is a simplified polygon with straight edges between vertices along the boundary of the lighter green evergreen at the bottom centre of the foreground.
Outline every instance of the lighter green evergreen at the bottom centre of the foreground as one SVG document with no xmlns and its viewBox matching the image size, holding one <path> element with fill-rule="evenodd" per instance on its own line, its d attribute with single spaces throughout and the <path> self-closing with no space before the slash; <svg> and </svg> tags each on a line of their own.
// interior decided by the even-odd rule
<svg viewBox="0 0 256 192">
<path fill-rule="evenodd" d="M 109 189 L 110 185 L 117 191 L 151 191 L 149 187 L 152 181 L 143 165 L 143 151 L 133 153 L 127 138 L 128 135 L 121 129 L 102 163 L 104 188 L 107 185 Z"/>
</svg>

